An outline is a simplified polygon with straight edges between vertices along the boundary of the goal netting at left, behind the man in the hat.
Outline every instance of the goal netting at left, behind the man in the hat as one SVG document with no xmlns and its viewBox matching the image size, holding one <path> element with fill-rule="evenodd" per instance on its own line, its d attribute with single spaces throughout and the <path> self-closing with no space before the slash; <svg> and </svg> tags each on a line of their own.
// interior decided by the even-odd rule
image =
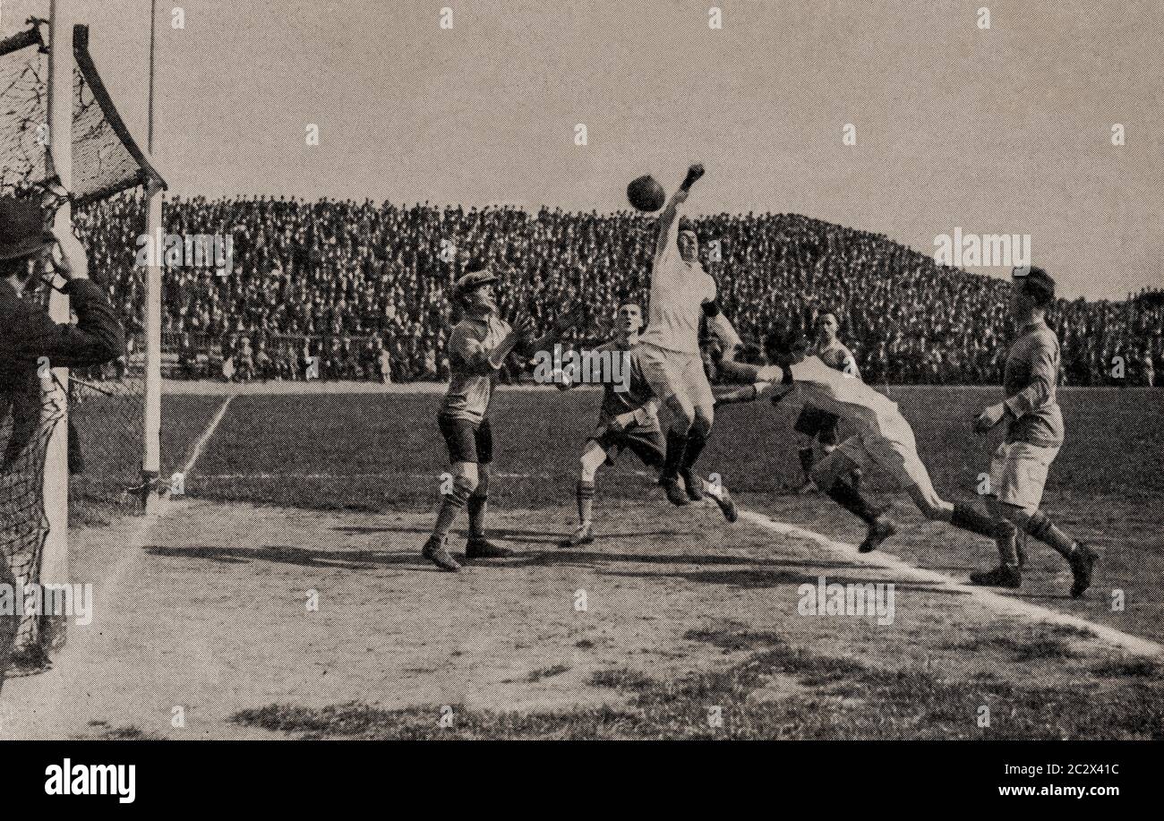
<svg viewBox="0 0 1164 821">
<path fill-rule="evenodd" d="M 71 200 L 73 229 L 90 254 L 126 328 L 121 360 L 72 370 L 68 384 L 40 378 L 35 367 L 0 384 L 0 583 L 36 585 L 50 517 L 44 509 L 45 453 L 68 408 L 70 518 L 140 509 L 144 450 L 144 318 L 147 271 L 135 264 L 136 238 L 146 232 L 141 190 L 164 187 L 134 142 L 88 52 L 88 29 L 73 30 L 72 179 L 56 183 L 49 156 L 48 49 L 42 21 L 0 40 L 0 197 L 31 198 L 47 206 Z M 47 304 L 50 289 L 26 298 Z M 157 298 L 157 297 L 152 297 Z M 19 384 L 16 384 L 19 383 Z M 0 622 L 6 616 L 0 608 Z M 47 660 L 51 620 L 17 613 L 0 623 L 0 681 L 5 634 L 16 632 L 13 665 Z M 13 625 L 15 630 L 13 630 Z"/>
</svg>

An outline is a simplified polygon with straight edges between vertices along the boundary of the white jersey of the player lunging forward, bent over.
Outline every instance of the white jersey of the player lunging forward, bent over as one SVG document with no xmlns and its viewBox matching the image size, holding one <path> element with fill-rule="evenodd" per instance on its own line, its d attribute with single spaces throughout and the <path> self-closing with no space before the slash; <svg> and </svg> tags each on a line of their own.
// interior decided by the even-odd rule
<svg viewBox="0 0 1164 821">
<path fill-rule="evenodd" d="M 817 356 L 808 356 L 792 366 L 780 366 L 792 371 L 792 382 L 760 382 L 757 395 L 787 392 L 794 387 L 807 404 L 852 423 L 859 432 L 883 436 L 900 430 L 906 422 L 897 403 L 870 388 L 856 376 L 845 376 L 830 368 Z"/>
</svg>

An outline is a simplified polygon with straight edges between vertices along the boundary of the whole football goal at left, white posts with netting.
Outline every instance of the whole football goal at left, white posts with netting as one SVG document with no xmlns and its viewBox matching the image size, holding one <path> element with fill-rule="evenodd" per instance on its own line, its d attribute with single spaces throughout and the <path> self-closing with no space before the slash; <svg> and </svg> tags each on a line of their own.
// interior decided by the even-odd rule
<svg viewBox="0 0 1164 821">
<path fill-rule="evenodd" d="M 135 240 L 161 229 L 165 182 L 121 120 L 90 55 L 88 28 L 73 26 L 70 5 L 52 0 L 48 40 L 45 21 L 35 19 L 0 40 L 0 196 L 55 207 L 54 229 L 80 236 L 128 349 L 102 369 L 40 374 L 33 424 L 0 401 L 0 562 L 24 585 L 69 581 L 70 502 L 144 512 L 161 470 L 162 261 L 154 255 L 137 268 Z M 70 320 L 63 293 L 42 289 L 37 297 L 56 321 Z M 64 620 L 17 618 L 15 663 L 43 667 L 64 640 Z M 6 651 L 0 646 L 0 682 Z"/>
</svg>

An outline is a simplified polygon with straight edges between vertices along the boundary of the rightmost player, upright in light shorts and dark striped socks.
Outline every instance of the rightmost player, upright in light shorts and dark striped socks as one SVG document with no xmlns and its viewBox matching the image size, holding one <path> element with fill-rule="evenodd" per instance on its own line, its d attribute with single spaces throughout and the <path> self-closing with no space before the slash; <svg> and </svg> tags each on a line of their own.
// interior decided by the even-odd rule
<svg viewBox="0 0 1164 821">
<path fill-rule="evenodd" d="M 986 436 L 1006 424 L 1006 439 L 991 459 L 987 509 L 999 528 L 999 566 L 971 573 L 975 585 L 1017 588 L 1024 557 L 1017 551 L 1017 528 L 1050 545 L 1067 564 L 1073 597 L 1091 586 L 1095 551 L 1059 530 L 1039 510 L 1046 474 L 1063 446 L 1063 413 L 1056 401 L 1059 378 L 1059 340 L 1046 326 L 1046 309 L 1055 300 L 1055 281 L 1042 268 L 1016 268 L 1009 312 L 1020 328 L 1003 370 L 1006 399 L 984 410 L 974 431 Z"/>
</svg>

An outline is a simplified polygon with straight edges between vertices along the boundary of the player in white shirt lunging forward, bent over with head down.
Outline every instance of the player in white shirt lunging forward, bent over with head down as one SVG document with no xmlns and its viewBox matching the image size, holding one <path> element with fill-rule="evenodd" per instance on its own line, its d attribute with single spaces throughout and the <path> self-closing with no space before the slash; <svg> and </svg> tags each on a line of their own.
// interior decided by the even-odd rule
<svg viewBox="0 0 1164 821">
<path fill-rule="evenodd" d="M 928 519 L 949 522 L 972 533 L 995 538 L 989 516 L 963 503 L 951 504 L 934 490 L 929 473 L 917 458 L 914 431 L 897 404 L 858 378 L 830 368 L 817 356 L 805 356 L 807 345 L 799 333 L 780 332 L 765 341 L 769 361 L 765 367 L 734 365 L 737 373 L 752 368 L 759 381 L 719 396 L 717 404 L 754 402 L 760 396 L 781 397 L 799 388 L 805 403 L 850 423 L 854 436 L 840 443 L 812 468 L 812 480 L 868 525 L 860 551 L 867 553 L 897 532 L 896 525 L 875 509 L 845 476 L 871 462 L 883 467 L 914 500 Z"/>
</svg>

